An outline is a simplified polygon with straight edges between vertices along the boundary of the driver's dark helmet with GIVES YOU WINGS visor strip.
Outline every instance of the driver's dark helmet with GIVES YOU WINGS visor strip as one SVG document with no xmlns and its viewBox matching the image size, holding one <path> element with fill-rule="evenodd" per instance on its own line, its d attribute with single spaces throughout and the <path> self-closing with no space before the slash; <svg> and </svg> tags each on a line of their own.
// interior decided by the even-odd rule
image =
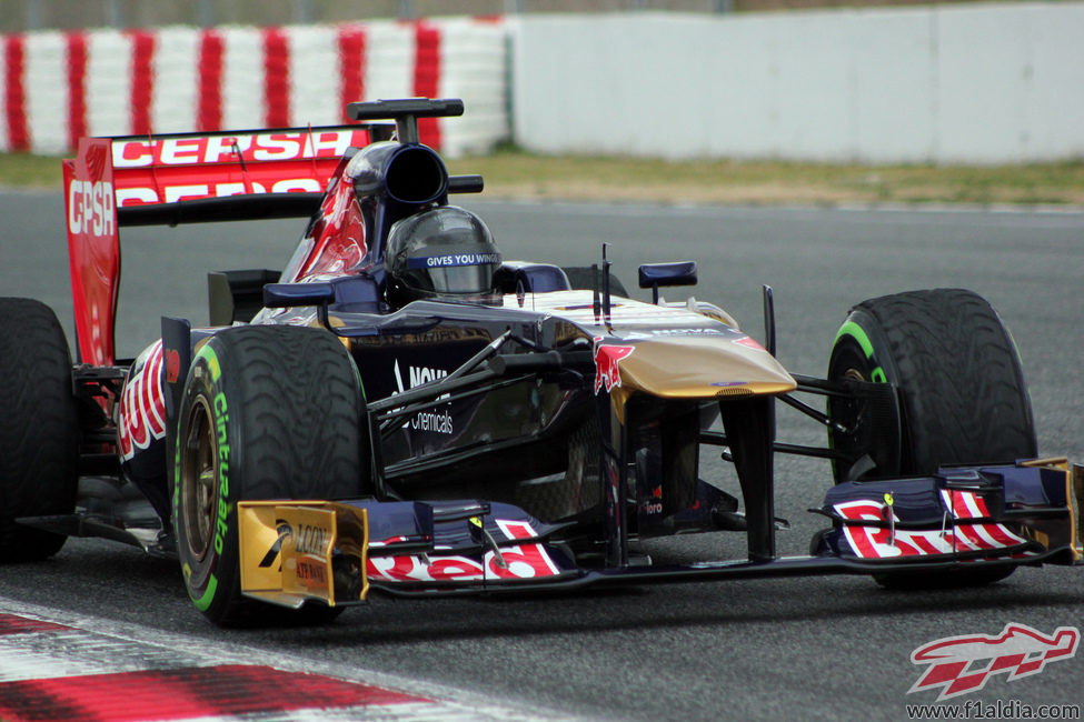
<svg viewBox="0 0 1084 722">
<path fill-rule="evenodd" d="M 441 205 L 396 221 L 388 232 L 386 259 L 392 303 L 468 301 L 494 293 L 500 251 L 480 218 Z"/>
</svg>

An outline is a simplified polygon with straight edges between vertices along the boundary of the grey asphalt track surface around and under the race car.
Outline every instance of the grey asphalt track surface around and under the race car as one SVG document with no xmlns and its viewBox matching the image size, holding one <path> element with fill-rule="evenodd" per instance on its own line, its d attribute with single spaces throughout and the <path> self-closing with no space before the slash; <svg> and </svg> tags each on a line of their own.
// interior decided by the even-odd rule
<svg viewBox="0 0 1084 722">
<path fill-rule="evenodd" d="M 760 337 L 760 284 L 775 289 L 779 358 L 821 374 L 847 309 L 865 298 L 963 287 L 991 300 L 1012 329 L 1030 381 L 1040 451 L 1084 460 L 1084 212 L 645 208 L 477 201 L 505 257 L 589 264 L 600 243 L 626 282 L 638 263 L 695 259 L 695 293 Z M 0 195 L 0 293 L 30 295 L 70 319 L 59 193 Z M 280 268 L 300 223 L 126 229 L 119 350 L 133 354 L 162 313 L 206 319 L 207 270 Z M 70 333 L 70 323 L 68 323 Z M 822 432 L 780 411 L 780 438 Z M 722 479 L 714 452 L 702 475 Z M 828 484 L 823 462 L 777 460 L 776 511 L 792 522 L 779 551 L 805 553 Z M 725 479 L 720 481 L 728 483 Z M 668 540 L 662 558 L 726 558 L 744 539 Z M 221 631 L 191 608 L 176 564 L 95 540 L 72 540 L 46 563 L 0 568 L 0 605 L 79 615 L 200 649 L 239 646 L 261 659 L 372 671 L 508 701 L 541 715 L 593 719 L 907 719 L 933 640 L 996 635 L 1010 622 L 1050 634 L 1082 626 L 1084 569 L 1022 569 L 984 589 L 899 593 L 861 576 L 666 586 L 558 595 L 404 601 L 375 598 L 322 629 Z M 180 640 L 180 642 L 177 642 Z M 265 662 L 266 663 L 266 662 Z M 1084 653 L 1040 674 L 951 702 L 1084 703 Z M 528 712 L 528 716 L 530 713 Z"/>
</svg>

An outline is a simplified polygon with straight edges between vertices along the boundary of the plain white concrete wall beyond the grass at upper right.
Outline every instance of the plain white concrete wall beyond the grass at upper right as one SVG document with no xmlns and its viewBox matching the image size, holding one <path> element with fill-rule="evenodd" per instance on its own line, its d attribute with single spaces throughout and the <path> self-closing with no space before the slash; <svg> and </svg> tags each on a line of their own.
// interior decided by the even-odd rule
<svg viewBox="0 0 1084 722">
<path fill-rule="evenodd" d="M 515 23 L 544 153 L 884 163 L 1084 158 L 1084 3 Z"/>
</svg>

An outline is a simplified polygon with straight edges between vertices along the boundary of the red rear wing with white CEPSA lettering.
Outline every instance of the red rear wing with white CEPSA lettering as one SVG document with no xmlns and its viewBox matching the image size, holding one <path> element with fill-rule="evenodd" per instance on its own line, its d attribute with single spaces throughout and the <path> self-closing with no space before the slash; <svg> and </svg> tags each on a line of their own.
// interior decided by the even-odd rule
<svg viewBox="0 0 1084 722">
<path fill-rule="evenodd" d="M 83 138 L 64 207 L 79 359 L 115 362 L 121 225 L 311 215 L 362 126 Z"/>
</svg>

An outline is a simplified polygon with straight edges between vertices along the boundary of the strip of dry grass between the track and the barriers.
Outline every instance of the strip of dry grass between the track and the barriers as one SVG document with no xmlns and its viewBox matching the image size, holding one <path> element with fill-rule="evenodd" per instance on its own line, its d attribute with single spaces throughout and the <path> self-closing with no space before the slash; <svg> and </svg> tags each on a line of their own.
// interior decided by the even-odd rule
<svg viewBox="0 0 1084 722">
<path fill-rule="evenodd" d="M 1084 161 L 1005 167 L 834 166 L 548 157 L 501 149 L 448 163 L 481 173 L 489 198 L 662 203 L 1084 205 Z M 60 160 L 0 154 L 0 185 L 60 188 Z"/>
</svg>

